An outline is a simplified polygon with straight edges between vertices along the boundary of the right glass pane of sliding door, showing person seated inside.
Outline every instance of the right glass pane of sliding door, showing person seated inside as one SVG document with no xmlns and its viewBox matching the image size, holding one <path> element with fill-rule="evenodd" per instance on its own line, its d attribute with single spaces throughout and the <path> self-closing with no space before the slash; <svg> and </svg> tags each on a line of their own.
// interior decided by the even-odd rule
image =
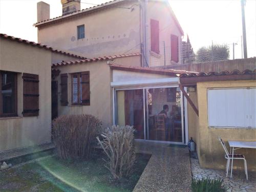
<svg viewBox="0 0 256 192">
<path fill-rule="evenodd" d="M 182 142 L 179 88 L 148 89 L 147 109 L 150 140 Z"/>
</svg>

